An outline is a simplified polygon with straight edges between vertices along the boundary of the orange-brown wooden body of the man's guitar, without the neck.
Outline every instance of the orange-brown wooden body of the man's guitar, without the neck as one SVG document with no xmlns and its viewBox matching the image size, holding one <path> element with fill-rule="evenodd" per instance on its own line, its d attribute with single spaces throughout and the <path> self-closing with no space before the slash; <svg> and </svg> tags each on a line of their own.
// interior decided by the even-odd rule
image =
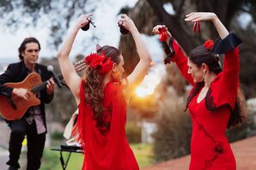
<svg viewBox="0 0 256 170">
<path fill-rule="evenodd" d="M 30 73 L 22 82 L 8 82 L 4 86 L 10 88 L 26 88 L 31 90 L 34 86 L 41 83 L 41 77 L 38 73 Z M 28 100 L 24 100 L 18 96 L 12 96 L 13 103 L 16 108 L 11 105 L 11 102 L 6 96 L 0 95 L 0 114 L 7 120 L 15 120 L 23 117 L 30 106 L 40 105 L 40 100 L 35 94 L 31 93 Z"/>
</svg>

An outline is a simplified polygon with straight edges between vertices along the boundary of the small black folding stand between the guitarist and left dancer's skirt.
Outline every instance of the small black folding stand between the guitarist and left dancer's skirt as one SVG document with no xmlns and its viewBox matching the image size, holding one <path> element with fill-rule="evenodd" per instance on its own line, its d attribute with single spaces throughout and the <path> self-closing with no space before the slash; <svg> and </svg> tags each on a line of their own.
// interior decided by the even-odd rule
<svg viewBox="0 0 256 170">
<path fill-rule="evenodd" d="M 61 163 L 61 166 L 62 166 L 63 170 L 65 170 L 67 168 L 68 163 L 70 161 L 70 155 L 72 153 L 83 153 L 81 147 L 68 146 L 68 145 L 61 145 L 60 149 L 51 149 L 51 150 L 58 151 L 60 153 L 59 160 L 60 160 L 60 163 Z M 68 158 L 65 161 L 64 161 L 64 156 L 63 156 L 62 152 L 68 152 L 69 153 Z"/>
</svg>

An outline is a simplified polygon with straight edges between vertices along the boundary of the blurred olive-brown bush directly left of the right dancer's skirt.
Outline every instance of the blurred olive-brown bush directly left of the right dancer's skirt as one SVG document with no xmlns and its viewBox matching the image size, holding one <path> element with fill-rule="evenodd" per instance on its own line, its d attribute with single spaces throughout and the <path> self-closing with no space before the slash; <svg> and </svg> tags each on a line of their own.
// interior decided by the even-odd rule
<svg viewBox="0 0 256 170">
<path fill-rule="evenodd" d="M 192 124 L 179 100 L 166 98 L 161 102 L 153 137 L 155 161 L 167 161 L 190 153 Z"/>
</svg>

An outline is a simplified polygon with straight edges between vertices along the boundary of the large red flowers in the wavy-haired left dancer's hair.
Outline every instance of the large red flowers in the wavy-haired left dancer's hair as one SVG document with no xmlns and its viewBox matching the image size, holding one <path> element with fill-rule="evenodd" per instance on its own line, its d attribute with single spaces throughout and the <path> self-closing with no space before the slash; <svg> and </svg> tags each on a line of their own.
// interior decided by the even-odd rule
<svg viewBox="0 0 256 170">
<path fill-rule="evenodd" d="M 113 61 L 111 60 L 111 58 L 106 58 L 104 52 L 102 52 L 101 55 L 98 55 L 97 53 L 91 53 L 84 59 L 84 61 L 86 64 L 93 67 L 94 69 L 100 66 L 101 69 L 99 70 L 99 72 L 103 75 L 106 74 L 113 67 Z"/>
</svg>

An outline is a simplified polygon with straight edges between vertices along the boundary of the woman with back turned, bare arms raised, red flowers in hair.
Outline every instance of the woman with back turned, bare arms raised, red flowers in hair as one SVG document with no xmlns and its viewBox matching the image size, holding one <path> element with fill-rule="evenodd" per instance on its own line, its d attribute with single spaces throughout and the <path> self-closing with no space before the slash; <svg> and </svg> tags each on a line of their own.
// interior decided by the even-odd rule
<svg viewBox="0 0 256 170">
<path fill-rule="evenodd" d="M 91 16 L 79 17 L 58 52 L 61 72 L 79 109 L 74 133 L 84 149 L 82 169 L 137 170 L 137 161 L 125 138 L 126 106 L 149 70 L 151 57 L 133 21 L 121 15 L 119 24 L 131 33 L 137 46 L 140 60 L 135 70 L 122 80 L 122 54 L 113 46 L 102 46 L 85 58 L 85 75 L 78 76 L 69 59 L 70 50 L 76 33 L 91 21 Z"/>
</svg>

